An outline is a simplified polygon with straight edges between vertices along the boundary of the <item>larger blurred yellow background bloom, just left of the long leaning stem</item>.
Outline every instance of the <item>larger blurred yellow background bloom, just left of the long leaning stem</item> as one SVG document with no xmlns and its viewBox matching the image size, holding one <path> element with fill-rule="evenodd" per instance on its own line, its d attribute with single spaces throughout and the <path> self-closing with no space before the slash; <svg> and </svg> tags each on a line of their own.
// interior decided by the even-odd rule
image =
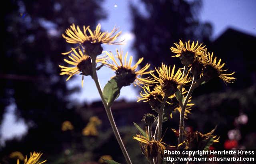
<svg viewBox="0 0 256 164">
<path fill-rule="evenodd" d="M 97 126 L 100 124 L 102 124 L 102 121 L 97 116 L 92 116 L 86 127 L 82 130 L 82 134 L 84 136 L 98 136 Z"/>
</svg>

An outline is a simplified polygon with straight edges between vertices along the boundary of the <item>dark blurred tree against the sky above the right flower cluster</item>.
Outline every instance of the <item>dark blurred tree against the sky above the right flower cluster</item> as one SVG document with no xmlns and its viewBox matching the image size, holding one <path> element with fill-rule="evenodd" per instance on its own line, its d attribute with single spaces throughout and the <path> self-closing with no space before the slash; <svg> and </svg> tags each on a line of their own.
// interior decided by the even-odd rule
<svg viewBox="0 0 256 164">
<path fill-rule="evenodd" d="M 136 6 L 131 5 L 133 32 L 136 36 L 134 48 L 137 57 L 144 57 L 144 62 L 159 66 L 177 64 L 177 58 L 171 58 L 170 46 L 174 42 L 187 40 L 208 41 L 212 33 L 209 23 L 198 20 L 200 0 L 141 0 L 146 8 L 141 14 Z"/>
</svg>

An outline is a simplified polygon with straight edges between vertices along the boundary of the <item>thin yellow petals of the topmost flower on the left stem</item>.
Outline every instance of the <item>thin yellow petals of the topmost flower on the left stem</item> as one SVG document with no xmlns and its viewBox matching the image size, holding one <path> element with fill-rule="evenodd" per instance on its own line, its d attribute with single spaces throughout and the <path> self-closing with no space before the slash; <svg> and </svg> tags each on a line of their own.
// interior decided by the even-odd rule
<svg viewBox="0 0 256 164">
<path fill-rule="evenodd" d="M 82 44 L 86 41 L 100 44 L 121 44 L 120 42 L 115 42 L 117 37 L 121 34 L 121 32 L 116 34 L 117 31 L 118 29 L 114 27 L 111 32 L 100 32 L 100 24 L 98 24 L 94 32 L 92 32 L 90 26 L 83 26 L 82 32 L 79 26 L 72 24 L 65 32 L 67 36 L 62 34 L 62 37 L 66 39 L 66 42 L 72 44 Z"/>
</svg>

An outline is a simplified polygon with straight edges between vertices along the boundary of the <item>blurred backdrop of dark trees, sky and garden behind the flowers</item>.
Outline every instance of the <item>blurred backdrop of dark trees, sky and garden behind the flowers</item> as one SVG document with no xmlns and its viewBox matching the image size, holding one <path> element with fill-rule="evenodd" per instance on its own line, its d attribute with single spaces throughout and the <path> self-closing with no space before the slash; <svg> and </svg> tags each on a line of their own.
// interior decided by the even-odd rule
<svg viewBox="0 0 256 164">
<path fill-rule="evenodd" d="M 214 79 L 192 94 L 192 114 L 186 130 L 210 132 L 220 142 L 212 149 L 256 148 L 256 1 L 254 0 L 9 0 L 5 2 L 0 64 L 0 163 L 16 163 L 32 151 L 43 152 L 50 164 L 97 164 L 100 158 L 124 162 L 96 87 L 90 77 L 66 82 L 60 76 L 62 52 L 70 49 L 61 34 L 70 24 L 98 23 L 102 31 L 122 30 L 124 45 L 104 50 L 128 51 L 134 62 L 144 57 L 159 66 L 176 64 L 170 46 L 179 39 L 203 42 L 235 71 L 234 84 Z M 104 86 L 114 72 L 102 68 Z M 143 127 L 142 116 L 153 113 L 137 103 L 140 88 L 122 88 L 113 114 L 134 163 L 146 163 L 132 136 L 133 122 Z M 178 128 L 179 114 L 164 123 Z M 164 141 L 175 145 L 168 128 Z M 111 148 L 111 151 L 110 151 Z M 23 155 L 22 155 L 23 154 Z"/>
</svg>

